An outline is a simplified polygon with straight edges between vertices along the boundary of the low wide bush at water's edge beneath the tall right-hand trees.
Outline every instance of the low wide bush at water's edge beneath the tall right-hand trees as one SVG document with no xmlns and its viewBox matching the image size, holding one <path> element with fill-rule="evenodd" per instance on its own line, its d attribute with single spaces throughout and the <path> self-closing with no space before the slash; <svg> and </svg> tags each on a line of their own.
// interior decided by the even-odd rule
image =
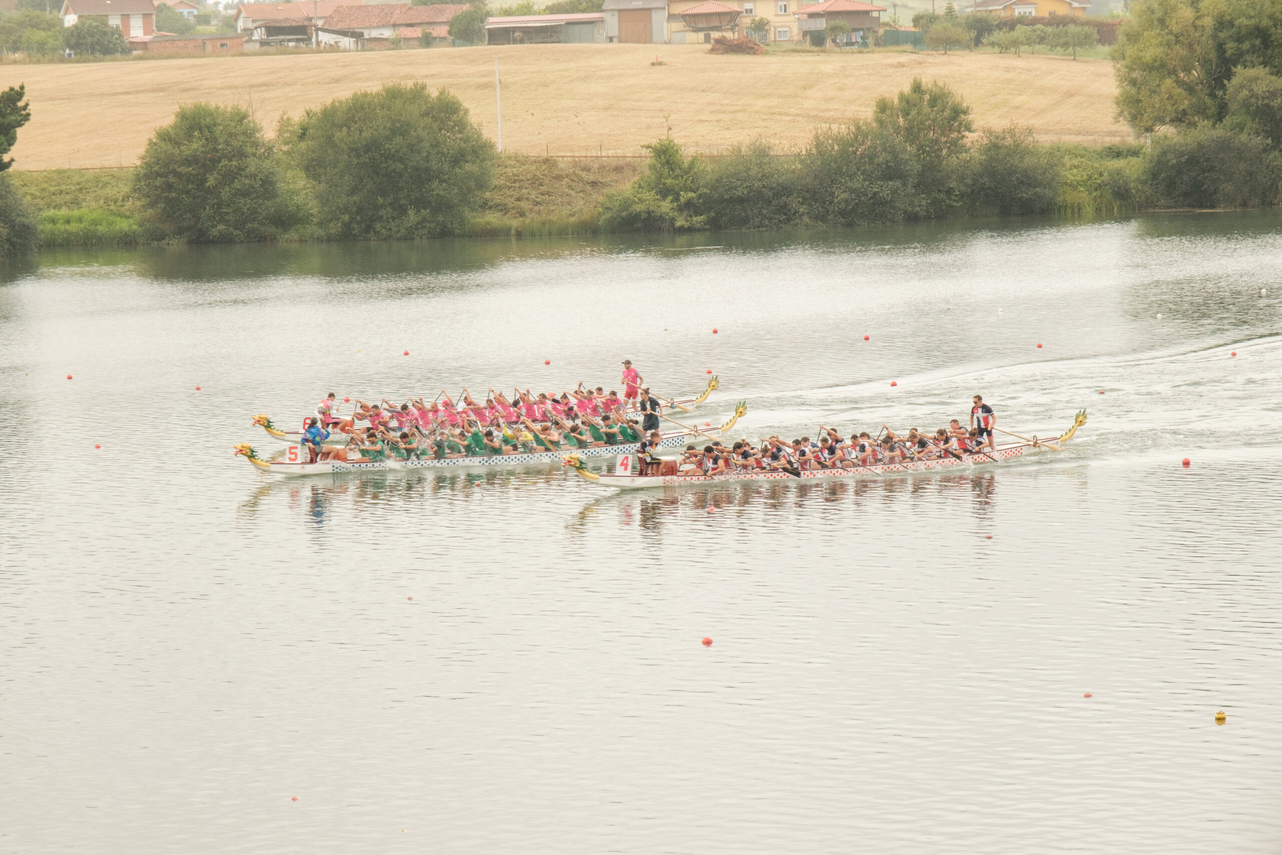
<svg viewBox="0 0 1282 855">
<path fill-rule="evenodd" d="M 1145 156 L 1145 177 L 1168 205 L 1268 205 L 1278 199 L 1278 158 L 1264 137 L 1206 124 L 1155 137 Z"/>
</svg>

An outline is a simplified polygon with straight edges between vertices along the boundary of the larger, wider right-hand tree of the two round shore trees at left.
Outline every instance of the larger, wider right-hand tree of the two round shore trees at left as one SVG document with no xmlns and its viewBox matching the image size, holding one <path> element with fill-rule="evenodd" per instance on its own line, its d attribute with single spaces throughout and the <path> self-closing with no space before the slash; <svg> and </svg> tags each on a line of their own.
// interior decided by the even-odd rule
<svg viewBox="0 0 1282 855">
<path fill-rule="evenodd" d="M 423 83 L 308 110 L 290 149 L 318 188 L 320 226 L 335 237 L 456 235 L 494 177 L 494 144 L 463 103 Z"/>
</svg>

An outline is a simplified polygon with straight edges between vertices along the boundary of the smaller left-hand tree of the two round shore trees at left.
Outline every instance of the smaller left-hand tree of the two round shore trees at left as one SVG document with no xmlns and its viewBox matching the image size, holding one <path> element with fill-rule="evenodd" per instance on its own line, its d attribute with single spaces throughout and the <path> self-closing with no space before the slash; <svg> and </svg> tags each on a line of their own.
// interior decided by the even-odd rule
<svg viewBox="0 0 1282 855">
<path fill-rule="evenodd" d="M 265 240 L 287 226 L 271 154 L 249 112 L 188 104 L 147 141 L 133 195 L 145 219 L 171 237 Z"/>
</svg>

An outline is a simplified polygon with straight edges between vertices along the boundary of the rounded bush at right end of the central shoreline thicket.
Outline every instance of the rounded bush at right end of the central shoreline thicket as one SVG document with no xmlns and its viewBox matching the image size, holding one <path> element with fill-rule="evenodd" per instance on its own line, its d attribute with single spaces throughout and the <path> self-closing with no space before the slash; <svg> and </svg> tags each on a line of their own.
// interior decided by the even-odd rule
<svg viewBox="0 0 1282 855">
<path fill-rule="evenodd" d="M 1029 128 L 983 128 L 967 164 L 967 196 L 1001 215 L 1045 214 L 1059 197 L 1060 167 Z"/>
</svg>

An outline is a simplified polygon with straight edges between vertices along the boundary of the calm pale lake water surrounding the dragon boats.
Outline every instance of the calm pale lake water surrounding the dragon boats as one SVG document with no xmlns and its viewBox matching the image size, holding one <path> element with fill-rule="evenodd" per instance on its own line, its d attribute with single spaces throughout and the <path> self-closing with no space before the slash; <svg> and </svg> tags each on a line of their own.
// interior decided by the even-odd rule
<svg viewBox="0 0 1282 855">
<path fill-rule="evenodd" d="M 1277 214 L 6 277 L 3 852 L 1282 849 Z M 669 492 L 232 455 L 331 390 L 624 358 L 662 394 L 717 372 L 696 415 L 746 401 L 736 437 L 976 392 L 1088 422 L 967 474 Z"/>
</svg>

